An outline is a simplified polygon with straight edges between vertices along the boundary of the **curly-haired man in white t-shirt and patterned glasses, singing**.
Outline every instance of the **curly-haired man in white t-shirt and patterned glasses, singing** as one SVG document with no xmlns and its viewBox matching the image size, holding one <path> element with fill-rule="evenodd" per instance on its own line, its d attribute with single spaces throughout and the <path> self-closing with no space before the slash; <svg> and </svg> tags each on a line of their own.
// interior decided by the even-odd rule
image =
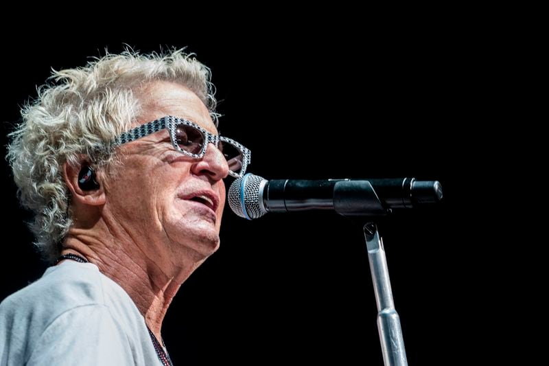
<svg viewBox="0 0 549 366">
<path fill-rule="evenodd" d="M 209 69 L 180 50 L 54 71 L 8 159 L 36 246 L 56 264 L 0 304 L 0 365 L 171 365 L 161 326 L 214 253 L 226 176 Z"/>
</svg>

